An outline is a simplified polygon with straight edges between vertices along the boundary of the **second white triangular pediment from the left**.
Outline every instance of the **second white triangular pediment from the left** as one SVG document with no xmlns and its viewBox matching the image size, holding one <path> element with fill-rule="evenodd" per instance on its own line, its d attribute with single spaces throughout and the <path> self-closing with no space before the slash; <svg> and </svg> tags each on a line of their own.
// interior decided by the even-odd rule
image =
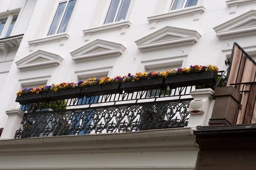
<svg viewBox="0 0 256 170">
<path fill-rule="evenodd" d="M 97 39 L 72 51 L 70 55 L 74 61 L 77 61 L 80 59 L 98 59 L 98 57 L 116 57 L 125 50 L 126 48 L 122 44 Z"/>
</svg>

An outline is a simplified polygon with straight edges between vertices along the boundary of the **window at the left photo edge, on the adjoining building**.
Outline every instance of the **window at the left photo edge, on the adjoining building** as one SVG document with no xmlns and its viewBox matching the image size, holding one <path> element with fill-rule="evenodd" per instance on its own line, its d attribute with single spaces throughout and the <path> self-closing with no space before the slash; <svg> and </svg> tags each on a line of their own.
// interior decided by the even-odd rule
<svg viewBox="0 0 256 170">
<path fill-rule="evenodd" d="M 9 16 L 0 18 L 0 37 L 9 37 L 11 35 L 12 29 L 18 18 L 17 15 L 10 14 Z"/>
</svg>

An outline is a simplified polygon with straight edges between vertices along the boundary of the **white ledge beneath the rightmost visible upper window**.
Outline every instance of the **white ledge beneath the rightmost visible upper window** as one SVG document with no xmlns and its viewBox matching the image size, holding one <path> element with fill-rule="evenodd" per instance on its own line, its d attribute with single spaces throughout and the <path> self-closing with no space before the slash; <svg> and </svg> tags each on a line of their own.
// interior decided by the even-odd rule
<svg viewBox="0 0 256 170">
<path fill-rule="evenodd" d="M 147 20 L 149 22 L 157 22 L 157 21 L 163 20 L 163 19 L 170 19 L 170 18 L 174 18 L 174 17 L 182 17 L 184 15 L 194 15 L 194 14 L 198 14 L 198 13 L 201 14 L 204 11 L 205 11 L 205 8 L 203 6 L 182 8 L 182 9 L 177 9 L 177 10 L 170 11 L 170 12 L 165 13 L 165 14 L 160 14 L 160 15 L 157 15 L 157 16 L 147 17 Z M 198 19 L 196 19 L 196 20 L 198 20 Z"/>
</svg>

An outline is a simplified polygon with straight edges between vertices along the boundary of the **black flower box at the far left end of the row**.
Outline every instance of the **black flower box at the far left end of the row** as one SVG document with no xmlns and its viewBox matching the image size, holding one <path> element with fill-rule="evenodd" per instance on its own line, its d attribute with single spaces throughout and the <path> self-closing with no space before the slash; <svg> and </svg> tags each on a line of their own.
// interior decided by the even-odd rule
<svg viewBox="0 0 256 170">
<path fill-rule="evenodd" d="M 47 92 L 22 94 L 17 96 L 15 102 L 19 102 L 19 104 L 45 102 L 46 95 Z"/>
</svg>

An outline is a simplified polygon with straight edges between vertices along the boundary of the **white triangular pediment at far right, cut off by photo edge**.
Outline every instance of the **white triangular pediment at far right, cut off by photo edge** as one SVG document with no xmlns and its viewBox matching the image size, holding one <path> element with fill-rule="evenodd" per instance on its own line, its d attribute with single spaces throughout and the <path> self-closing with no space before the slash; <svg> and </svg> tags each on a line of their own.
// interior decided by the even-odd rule
<svg viewBox="0 0 256 170">
<path fill-rule="evenodd" d="M 256 34 L 256 10 L 235 17 L 213 29 L 220 39 Z"/>
</svg>

